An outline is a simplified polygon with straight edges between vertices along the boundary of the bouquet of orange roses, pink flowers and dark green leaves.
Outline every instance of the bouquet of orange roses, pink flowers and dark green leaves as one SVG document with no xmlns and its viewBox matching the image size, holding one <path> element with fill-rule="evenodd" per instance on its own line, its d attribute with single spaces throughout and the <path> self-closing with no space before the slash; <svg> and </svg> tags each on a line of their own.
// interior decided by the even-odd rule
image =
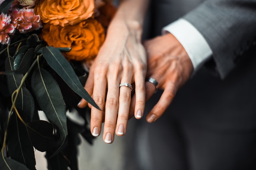
<svg viewBox="0 0 256 170">
<path fill-rule="evenodd" d="M 46 152 L 49 169 L 78 169 L 79 135 L 89 143 L 93 136 L 90 108 L 77 104 L 98 108 L 83 88 L 86 63 L 114 12 L 106 0 L 0 0 L 1 170 L 35 170 L 34 149 Z M 72 110 L 85 123 L 70 120 Z"/>
</svg>

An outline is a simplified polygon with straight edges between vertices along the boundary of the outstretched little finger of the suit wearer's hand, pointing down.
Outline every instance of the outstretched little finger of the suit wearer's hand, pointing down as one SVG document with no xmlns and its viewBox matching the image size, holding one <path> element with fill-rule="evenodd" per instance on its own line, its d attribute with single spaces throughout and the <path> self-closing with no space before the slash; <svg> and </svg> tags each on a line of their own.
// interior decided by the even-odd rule
<svg viewBox="0 0 256 170">
<path fill-rule="evenodd" d="M 161 117 L 164 114 L 164 111 L 170 106 L 172 103 L 172 100 L 176 94 L 176 88 L 174 88 L 174 85 L 169 86 L 169 88 L 166 88 L 157 102 L 157 104 L 152 108 L 150 113 L 148 113 L 146 120 L 148 123 L 152 123 L 156 121 L 159 117 Z"/>
</svg>

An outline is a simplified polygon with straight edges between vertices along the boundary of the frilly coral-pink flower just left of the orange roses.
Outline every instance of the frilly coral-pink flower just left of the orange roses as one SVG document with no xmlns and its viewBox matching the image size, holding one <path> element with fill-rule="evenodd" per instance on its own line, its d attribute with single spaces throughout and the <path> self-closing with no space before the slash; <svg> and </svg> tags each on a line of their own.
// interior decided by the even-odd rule
<svg viewBox="0 0 256 170">
<path fill-rule="evenodd" d="M 20 33 L 26 33 L 42 28 L 40 16 L 35 15 L 34 9 L 15 9 L 11 14 L 12 22 Z"/>
</svg>

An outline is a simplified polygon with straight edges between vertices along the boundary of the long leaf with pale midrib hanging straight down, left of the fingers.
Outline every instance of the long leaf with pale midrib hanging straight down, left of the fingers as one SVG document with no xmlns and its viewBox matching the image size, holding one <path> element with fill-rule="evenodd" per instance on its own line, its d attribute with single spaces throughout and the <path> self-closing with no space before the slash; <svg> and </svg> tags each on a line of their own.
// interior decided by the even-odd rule
<svg viewBox="0 0 256 170">
<path fill-rule="evenodd" d="M 68 130 L 65 103 L 58 84 L 50 73 L 40 68 L 32 74 L 31 85 L 42 111 L 59 128 L 60 141 L 63 142 Z"/>
</svg>

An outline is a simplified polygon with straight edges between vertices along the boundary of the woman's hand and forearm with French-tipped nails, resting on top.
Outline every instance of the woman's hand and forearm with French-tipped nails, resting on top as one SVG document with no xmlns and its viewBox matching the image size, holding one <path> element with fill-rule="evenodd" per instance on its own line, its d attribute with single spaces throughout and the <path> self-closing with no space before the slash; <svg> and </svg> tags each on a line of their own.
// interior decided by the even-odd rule
<svg viewBox="0 0 256 170">
<path fill-rule="evenodd" d="M 126 133 L 131 89 L 119 84 L 135 84 L 135 115 L 144 112 L 146 52 L 141 43 L 142 24 L 148 0 L 123 0 L 108 27 L 106 40 L 90 68 L 85 89 L 102 109 L 92 107 L 91 133 L 100 135 L 104 121 L 103 140 L 114 141 L 114 134 Z M 82 100 L 78 107 L 85 107 Z M 140 116 L 138 117 L 140 118 Z"/>
</svg>

